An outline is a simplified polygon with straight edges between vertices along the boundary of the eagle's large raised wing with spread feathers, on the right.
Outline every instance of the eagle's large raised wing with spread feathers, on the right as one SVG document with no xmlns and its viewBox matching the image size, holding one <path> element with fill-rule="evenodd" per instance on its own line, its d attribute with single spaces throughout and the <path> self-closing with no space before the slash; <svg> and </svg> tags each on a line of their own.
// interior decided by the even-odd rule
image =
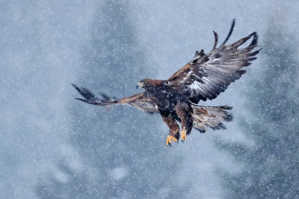
<svg viewBox="0 0 299 199">
<path fill-rule="evenodd" d="M 256 59 L 255 55 L 261 50 L 252 52 L 258 43 L 256 32 L 226 46 L 225 43 L 232 34 L 234 25 L 235 19 L 228 36 L 218 48 L 216 48 L 218 35 L 213 31 L 215 43 L 212 51 L 208 54 L 203 50 L 196 51 L 194 58 L 166 80 L 166 83 L 180 93 L 188 95 L 193 103 L 215 99 L 224 92 L 232 82 L 246 73 L 241 69 L 251 65 L 250 62 Z M 253 40 L 248 47 L 238 49 L 251 37 Z"/>
</svg>

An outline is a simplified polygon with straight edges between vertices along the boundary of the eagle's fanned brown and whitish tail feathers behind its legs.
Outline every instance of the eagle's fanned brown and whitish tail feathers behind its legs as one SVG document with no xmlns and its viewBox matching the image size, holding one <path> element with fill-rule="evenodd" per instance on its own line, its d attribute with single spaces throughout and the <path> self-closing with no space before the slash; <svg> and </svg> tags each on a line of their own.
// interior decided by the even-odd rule
<svg viewBox="0 0 299 199">
<path fill-rule="evenodd" d="M 206 132 L 206 127 L 213 130 L 226 130 L 226 126 L 223 121 L 233 121 L 233 114 L 227 110 L 231 110 L 233 107 L 228 105 L 223 106 L 199 106 L 192 105 L 193 108 L 193 128 L 201 133 Z"/>
</svg>

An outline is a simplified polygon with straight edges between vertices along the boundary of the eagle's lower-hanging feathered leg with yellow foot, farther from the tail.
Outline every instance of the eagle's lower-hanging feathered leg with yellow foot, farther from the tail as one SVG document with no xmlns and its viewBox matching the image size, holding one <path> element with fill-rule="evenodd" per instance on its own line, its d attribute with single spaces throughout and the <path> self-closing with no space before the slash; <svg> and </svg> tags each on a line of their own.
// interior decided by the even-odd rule
<svg viewBox="0 0 299 199">
<path fill-rule="evenodd" d="M 169 132 L 169 134 L 167 136 L 167 139 L 166 139 L 166 145 L 171 146 L 171 141 L 172 140 L 174 142 L 178 143 L 178 139 L 179 139 L 179 125 L 178 125 L 178 123 L 170 115 L 162 116 L 162 119 L 170 129 L 170 132 Z"/>
</svg>

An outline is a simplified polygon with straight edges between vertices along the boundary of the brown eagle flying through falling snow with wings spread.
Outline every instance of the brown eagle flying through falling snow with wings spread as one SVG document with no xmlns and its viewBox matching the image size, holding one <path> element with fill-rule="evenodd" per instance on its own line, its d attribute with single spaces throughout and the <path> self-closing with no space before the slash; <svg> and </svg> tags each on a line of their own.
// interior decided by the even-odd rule
<svg viewBox="0 0 299 199">
<path fill-rule="evenodd" d="M 256 32 L 226 45 L 234 25 L 235 19 L 226 39 L 219 47 L 217 47 L 218 35 L 213 31 L 215 42 L 211 52 L 205 54 L 203 50 L 196 51 L 193 59 L 169 79 L 141 80 L 137 84 L 137 89 L 145 89 L 143 93 L 112 100 L 104 94 L 101 94 L 102 98 L 98 98 L 89 90 L 72 84 L 84 98 L 76 99 L 100 106 L 127 104 L 149 113 L 160 113 L 162 120 L 170 129 L 166 138 L 167 146 L 171 146 L 172 141 L 178 143 L 180 137 L 185 143 L 186 135 L 191 133 L 192 128 L 201 133 L 206 131 L 206 127 L 214 130 L 226 129 L 222 122 L 233 120 L 232 114 L 227 111 L 232 107 L 201 106 L 198 102 L 215 99 L 232 82 L 240 79 L 246 73 L 243 67 L 251 65 L 250 62 L 257 58 L 255 56 L 261 50 L 253 51 L 258 46 Z M 249 46 L 239 48 L 250 38 L 253 39 Z"/>
</svg>

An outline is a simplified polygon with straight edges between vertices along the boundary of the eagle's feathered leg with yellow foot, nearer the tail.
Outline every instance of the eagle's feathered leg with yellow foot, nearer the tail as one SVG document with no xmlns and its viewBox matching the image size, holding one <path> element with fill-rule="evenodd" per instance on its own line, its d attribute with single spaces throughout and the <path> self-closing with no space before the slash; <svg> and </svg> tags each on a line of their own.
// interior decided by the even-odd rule
<svg viewBox="0 0 299 199">
<path fill-rule="evenodd" d="M 187 140 L 186 135 L 189 135 L 192 130 L 193 109 L 191 107 L 191 104 L 186 102 L 179 102 L 175 106 L 175 111 L 178 117 L 181 119 L 181 123 L 182 123 L 181 139 L 182 142 L 185 143 L 185 141 Z"/>
</svg>

